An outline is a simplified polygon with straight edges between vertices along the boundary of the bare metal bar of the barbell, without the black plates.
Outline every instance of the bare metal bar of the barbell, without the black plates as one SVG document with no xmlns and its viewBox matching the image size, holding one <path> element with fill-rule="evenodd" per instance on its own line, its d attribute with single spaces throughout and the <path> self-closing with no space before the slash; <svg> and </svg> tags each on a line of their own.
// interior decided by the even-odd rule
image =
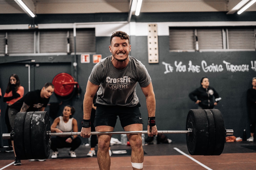
<svg viewBox="0 0 256 170">
<path fill-rule="evenodd" d="M 80 135 L 81 132 L 63 132 L 63 133 L 51 133 L 48 132 L 48 135 L 50 136 L 71 136 L 71 135 Z M 157 133 L 159 134 L 190 134 L 192 133 L 192 129 L 188 130 L 158 130 Z M 233 129 L 226 129 L 226 135 L 233 135 L 234 130 Z M 120 132 L 91 132 L 91 135 L 113 135 L 113 134 L 147 134 L 147 131 L 120 131 Z M 3 139 L 10 139 L 11 134 L 3 134 Z"/>
</svg>

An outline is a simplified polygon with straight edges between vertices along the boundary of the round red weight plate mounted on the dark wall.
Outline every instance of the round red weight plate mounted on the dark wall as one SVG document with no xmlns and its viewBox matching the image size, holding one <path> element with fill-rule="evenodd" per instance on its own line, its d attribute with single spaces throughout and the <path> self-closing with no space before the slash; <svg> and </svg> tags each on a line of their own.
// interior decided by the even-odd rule
<svg viewBox="0 0 256 170">
<path fill-rule="evenodd" d="M 73 82 L 73 83 L 72 83 Z M 68 96 L 74 90 L 74 78 L 68 73 L 59 73 L 52 80 L 54 93 L 58 96 Z"/>
</svg>

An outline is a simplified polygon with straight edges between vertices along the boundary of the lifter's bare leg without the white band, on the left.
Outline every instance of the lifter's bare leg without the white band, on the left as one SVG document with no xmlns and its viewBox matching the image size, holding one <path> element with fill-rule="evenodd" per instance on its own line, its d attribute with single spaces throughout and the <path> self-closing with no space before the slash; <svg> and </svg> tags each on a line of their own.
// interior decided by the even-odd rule
<svg viewBox="0 0 256 170">
<path fill-rule="evenodd" d="M 110 132 L 113 131 L 114 128 L 111 126 L 96 126 L 95 130 L 97 132 Z M 109 146 L 110 139 L 112 135 L 97 135 L 98 136 L 98 152 L 97 152 L 97 160 L 99 164 L 100 170 L 102 169 L 110 169 L 110 156 L 109 156 Z"/>
</svg>

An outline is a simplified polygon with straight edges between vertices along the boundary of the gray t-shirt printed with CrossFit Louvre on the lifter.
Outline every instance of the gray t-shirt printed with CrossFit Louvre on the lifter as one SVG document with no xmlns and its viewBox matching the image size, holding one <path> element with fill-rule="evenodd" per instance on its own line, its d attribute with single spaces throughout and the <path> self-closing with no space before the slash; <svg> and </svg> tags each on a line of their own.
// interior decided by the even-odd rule
<svg viewBox="0 0 256 170">
<path fill-rule="evenodd" d="M 146 67 L 129 56 L 129 63 L 123 70 L 114 68 L 111 57 L 102 59 L 92 69 L 89 81 L 100 85 L 96 103 L 133 107 L 139 102 L 135 92 L 137 82 L 141 87 L 150 84 Z"/>
</svg>

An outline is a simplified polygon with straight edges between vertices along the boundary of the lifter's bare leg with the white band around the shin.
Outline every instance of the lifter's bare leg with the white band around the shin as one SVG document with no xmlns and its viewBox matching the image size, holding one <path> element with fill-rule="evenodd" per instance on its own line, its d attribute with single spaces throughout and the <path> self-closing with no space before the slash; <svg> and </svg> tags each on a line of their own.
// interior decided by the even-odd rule
<svg viewBox="0 0 256 170">
<path fill-rule="evenodd" d="M 141 131 L 143 129 L 142 124 L 131 124 L 124 127 L 125 131 Z M 131 162 L 132 163 L 143 163 L 144 160 L 144 152 L 142 148 L 142 139 L 141 134 L 127 134 L 129 139 L 132 154 L 131 154 Z M 132 167 L 133 170 L 142 169 L 142 168 L 135 168 Z"/>
</svg>

